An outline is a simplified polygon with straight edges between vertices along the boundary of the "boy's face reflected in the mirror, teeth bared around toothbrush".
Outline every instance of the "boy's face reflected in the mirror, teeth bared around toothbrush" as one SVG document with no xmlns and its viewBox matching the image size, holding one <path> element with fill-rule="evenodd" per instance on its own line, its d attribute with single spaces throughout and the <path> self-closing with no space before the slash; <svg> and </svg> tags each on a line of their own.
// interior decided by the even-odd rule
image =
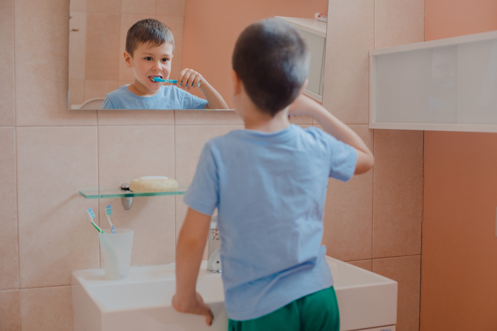
<svg viewBox="0 0 497 331">
<path fill-rule="evenodd" d="M 154 81 L 154 77 L 168 79 L 171 72 L 173 47 L 169 43 L 161 46 L 151 46 L 141 43 L 133 52 L 124 52 L 124 61 L 133 70 L 134 82 L 128 89 L 140 96 L 156 95 L 164 82 Z"/>
</svg>

